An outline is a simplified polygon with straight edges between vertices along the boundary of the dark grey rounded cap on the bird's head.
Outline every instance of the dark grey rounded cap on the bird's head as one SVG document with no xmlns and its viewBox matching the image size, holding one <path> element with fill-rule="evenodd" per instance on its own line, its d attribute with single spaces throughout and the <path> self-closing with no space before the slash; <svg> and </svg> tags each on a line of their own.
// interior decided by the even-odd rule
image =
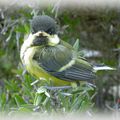
<svg viewBox="0 0 120 120">
<path fill-rule="evenodd" d="M 47 15 L 36 16 L 31 21 L 32 33 L 44 31 L 50 35 L 56 34 L 57 25 L 53 18 Z"/>
</svg>

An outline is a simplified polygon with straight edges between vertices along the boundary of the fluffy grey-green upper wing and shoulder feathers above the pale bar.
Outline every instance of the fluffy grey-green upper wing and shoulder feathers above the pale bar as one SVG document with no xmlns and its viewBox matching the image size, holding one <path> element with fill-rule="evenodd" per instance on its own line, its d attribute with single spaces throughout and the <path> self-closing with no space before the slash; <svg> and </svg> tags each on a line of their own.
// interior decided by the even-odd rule
<svg viewBox="0 0 120 120">
<path fill-rule="evenodd" d="M 46 47 L 42 50 L 40 48 L 33 57 L 39 63 L 40 67 L 44 68 L 47 72 L 58 71 L 71 61 L 72 58 L 71 52 L 62 45 Z"/>
</svg>

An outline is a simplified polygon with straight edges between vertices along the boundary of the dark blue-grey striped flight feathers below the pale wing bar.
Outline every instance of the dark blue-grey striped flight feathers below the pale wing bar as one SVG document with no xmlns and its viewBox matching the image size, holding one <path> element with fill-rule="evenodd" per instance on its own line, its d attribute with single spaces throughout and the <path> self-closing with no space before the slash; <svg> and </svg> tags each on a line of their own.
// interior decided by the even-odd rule
<svg viewBox="0 0 120 120">
<path fill-rule="evenodd" d="M 83 65 L 79 66 L 75 63 L 69 69 L 62 72 L 56 72 L 54 76 L 68 81 L 88 81 L 93 82 L 96 78 L 95 73 L 92 71 L 92 68 L 85 68 Z"/>
</svg>

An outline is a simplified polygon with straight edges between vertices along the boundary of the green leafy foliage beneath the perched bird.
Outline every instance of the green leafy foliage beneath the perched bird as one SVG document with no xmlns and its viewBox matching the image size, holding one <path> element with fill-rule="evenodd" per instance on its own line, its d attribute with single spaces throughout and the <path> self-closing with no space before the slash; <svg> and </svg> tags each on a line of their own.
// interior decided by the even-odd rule
<svg viewBox="0 0 120 120">
<path fill-rule="evenodd" d="M 50 90 L 41 86 L 40 81 L 32 84 L 35 80 L 27 73 L 17 76 L 19 80 L 5 81 L 5 89 L 0 94 L 1 111 L 85 112 L 93 106 L 91 96 L 95 89 L 88 84 L 65 90 Z"/>
</svg>

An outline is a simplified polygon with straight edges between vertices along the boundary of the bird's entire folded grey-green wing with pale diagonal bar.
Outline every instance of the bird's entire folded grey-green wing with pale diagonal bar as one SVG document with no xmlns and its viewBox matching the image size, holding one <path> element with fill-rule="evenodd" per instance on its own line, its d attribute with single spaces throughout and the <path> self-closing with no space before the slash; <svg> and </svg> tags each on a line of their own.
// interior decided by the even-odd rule
<svg viewBox="0 0 120 120">
<path fill-rule="evenodd" d="M 62 80 L 91 82 L 95 79 L 92 66 L 63 45 L 42 49 L 35 54 L 34 60 L 49 74 Z"/>
</svg>

